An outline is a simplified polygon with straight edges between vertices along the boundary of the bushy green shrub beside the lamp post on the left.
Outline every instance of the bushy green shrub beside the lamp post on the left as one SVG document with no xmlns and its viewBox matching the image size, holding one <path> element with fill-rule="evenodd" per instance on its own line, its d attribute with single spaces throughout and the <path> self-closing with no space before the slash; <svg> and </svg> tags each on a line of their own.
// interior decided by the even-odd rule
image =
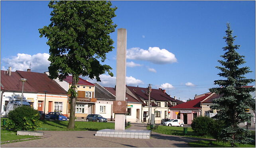
<svg viewBox="0 0 256 148">
<path fill-rule="evenodd" d="M 8 114 L 6 129 L 17 130 L 35 130 L 40 127 L 40 115 L 36 109 L 28 106 L 17 107 Z"/>
</svg>

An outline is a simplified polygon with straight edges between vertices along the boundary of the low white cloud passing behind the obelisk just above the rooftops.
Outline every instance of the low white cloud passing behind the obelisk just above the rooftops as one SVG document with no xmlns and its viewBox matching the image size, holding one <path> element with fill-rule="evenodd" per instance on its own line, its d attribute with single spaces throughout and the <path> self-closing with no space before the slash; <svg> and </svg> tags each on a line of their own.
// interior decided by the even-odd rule
<svg viewBox="0 0 256 148">
<path fill-rule="evenodd" d="M 85 80 L 88 79 L 89 82 L 91 82 L 91 83 L 97 82 L 95 79 L 92 80 L 88 77 L 81 77 L 81 78 L 83 78 Z M 116 85 L 116 77 L 115 76 L 111 77 L 109 75 L 102 74 L 102 75 L 100 75 L 100 80 L 101 80 L 101 82 L 97 82 L 97 83 L 104 87 L 114 87 Z M 130 77 L 126 76 L 126 85 L 137 86 L 139 84 L 143 84 L 142 80 L 138 80 L 132 76 L 130 76 Z"/>
</svg>

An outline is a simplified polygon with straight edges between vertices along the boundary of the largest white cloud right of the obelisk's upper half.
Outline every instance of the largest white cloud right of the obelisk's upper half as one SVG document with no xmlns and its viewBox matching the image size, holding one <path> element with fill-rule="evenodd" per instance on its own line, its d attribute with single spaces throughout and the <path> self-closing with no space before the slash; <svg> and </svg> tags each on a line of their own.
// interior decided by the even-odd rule
<svg viewBox="0 0 256 148">
<path fill-rule="evenodd" d="M 146 60 L 155 64 L 167 64 L 177 62 L 175 55 L 166 49 L 159 47 L 149 47 L 148 50 L 140 49 L 138 47 L 127 50 L 127 59 L 132 60 Z"/>
</svg>

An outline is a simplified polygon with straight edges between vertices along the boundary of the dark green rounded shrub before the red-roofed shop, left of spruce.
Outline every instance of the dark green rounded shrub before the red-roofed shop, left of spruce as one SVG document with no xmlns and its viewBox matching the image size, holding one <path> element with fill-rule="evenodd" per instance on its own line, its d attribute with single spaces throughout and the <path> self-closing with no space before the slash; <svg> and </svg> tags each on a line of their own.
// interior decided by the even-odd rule
<svg viewBox="0 0 256 148">
<path fill-rule="evenodd" d="M 197 133 L 199 136 L 205 136 L 209 134 L 210 126 L 213 122 L 213 119 L 210 117 L 197 117 L 192 120 L 191 128 Z"/>
</svg>

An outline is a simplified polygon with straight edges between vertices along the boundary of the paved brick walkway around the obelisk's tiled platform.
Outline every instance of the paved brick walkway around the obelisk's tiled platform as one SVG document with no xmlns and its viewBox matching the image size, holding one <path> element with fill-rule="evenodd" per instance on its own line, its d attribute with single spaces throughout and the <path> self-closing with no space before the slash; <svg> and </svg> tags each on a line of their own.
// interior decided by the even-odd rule
<svg viewBox="0 0 256 148">
<path fill-rule="evenodd" d="M 146 129 L 146 124 L 131 123 L 129 129 Z M 1 147 L 189 147 L 188 142 L 201 138 L 152 132 L 150 139 L 95 136 L 96 131 L 43 131 L 41 139 L 1 144 Z"/>
</svg>

